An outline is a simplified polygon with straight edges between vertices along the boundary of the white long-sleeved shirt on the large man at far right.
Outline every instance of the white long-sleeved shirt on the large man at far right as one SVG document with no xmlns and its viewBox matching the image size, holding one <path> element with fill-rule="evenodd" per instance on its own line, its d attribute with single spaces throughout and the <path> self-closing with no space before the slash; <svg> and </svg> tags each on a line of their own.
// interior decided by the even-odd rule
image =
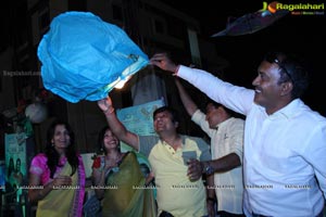
<svg viewBox="0 0 326 217">
<path fill-rule="evenodd" d="M 254 91 L 180 66 L 178 76 L 247 116 L 244 213 L 311 217 L 326 197 L 326 118 L 297 99 L 273 115 L 254 104 Z M 318 183 L 317 183 L 318 181 Z M 324 194 L 324 196 L 323 196 Z"/>
</svg>

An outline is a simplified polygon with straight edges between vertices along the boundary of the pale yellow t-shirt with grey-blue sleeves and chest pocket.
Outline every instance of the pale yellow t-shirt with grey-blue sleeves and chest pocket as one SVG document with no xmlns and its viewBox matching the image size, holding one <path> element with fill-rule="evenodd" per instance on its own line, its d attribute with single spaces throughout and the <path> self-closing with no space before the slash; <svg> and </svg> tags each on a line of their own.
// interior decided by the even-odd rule
<svg viewBox="0 0 326 217">
<path fill-rule="evenodd" d="M 210 161 L 210 146 L 200 138 L 181 136 L 183 148 L 174 150 L 159 137 L 139 136 L 140 152 L 148 156 L 155 176 L 159 213 L 175 217 L 200 217 L 208 214 L 205 187 L 201 179 L 190 181 L 183 153 L 192 151 L 196 158 Z"/>
</svg>

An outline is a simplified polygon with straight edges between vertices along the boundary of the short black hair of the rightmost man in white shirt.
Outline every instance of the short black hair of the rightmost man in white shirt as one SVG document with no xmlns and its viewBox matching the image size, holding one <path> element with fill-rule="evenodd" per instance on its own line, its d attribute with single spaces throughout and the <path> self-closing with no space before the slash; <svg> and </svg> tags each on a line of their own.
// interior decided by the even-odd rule
<svg viewBox="0 0 326 217">
<path fill-rule="evenodd" d="M 299 62 L 299 59 L 293 54 L 284 52 L 268 52 L 263 60 L 269 63 L 276 63 L 279 66 L 279 84 L 287 81 L 292 82 L 292 99 L 302 97 L 309 87 L 309 73 L 303 66 L 303 62 Z"/>
</svg>

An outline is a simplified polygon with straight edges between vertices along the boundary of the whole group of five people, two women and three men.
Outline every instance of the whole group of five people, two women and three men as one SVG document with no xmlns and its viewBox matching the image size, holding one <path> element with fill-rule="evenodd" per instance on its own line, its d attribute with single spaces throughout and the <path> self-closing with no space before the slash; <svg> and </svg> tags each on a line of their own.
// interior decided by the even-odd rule
<svg viewBox="0 0 326 217">
<path fill-rule="evenodd" d="M 108 126 L 99 132 L 101 154 L 92 164 L 97 216 L 324 216 L 326 118 L 300 99 L 309 84 L 300 62 L 267 53 L 253 89 L 178 65 L 166 53 L 154 54 L 150 64 L 176 77 L 180 101 L 210 144 L 179 133 L 178 114 L 170 106 L 153 113 L 156 136 L 139 136 L 120 122 L 110 97 L 99 100 Z M 205 113 L 179 78 L 211 99 Z M 135 151 L 122 153 L 120 141 Z M 37 216 L 88 216 L 85 168 L 75 145 L 67 123 L 50 126 L 45 153 L 29 167 L 29 184 L 41 187 L 28 191 Z M 142 173 L 136 152 L 148 157 L 150 173 Z M 147 188 L 153 181 L 156 195 Z"/>
</svg>

